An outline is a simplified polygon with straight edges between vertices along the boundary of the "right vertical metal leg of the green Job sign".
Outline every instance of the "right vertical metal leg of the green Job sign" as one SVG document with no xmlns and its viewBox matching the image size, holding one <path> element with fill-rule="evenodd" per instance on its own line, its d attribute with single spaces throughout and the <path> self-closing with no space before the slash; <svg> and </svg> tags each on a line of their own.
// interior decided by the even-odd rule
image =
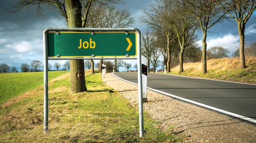
<svg viewBox="0 0 256 143">
<path fill-rule="evenodd" d="M 138 65 L 138 98 L 139 98 L 139 122 L 140 122 L 140 137 L 143 137 L 143 97 L 142 97 L 142 65 L 141 65 L 141 37 L 140 30 L 134 28 L 137 33 L 137 65 Z"/>
</svg>

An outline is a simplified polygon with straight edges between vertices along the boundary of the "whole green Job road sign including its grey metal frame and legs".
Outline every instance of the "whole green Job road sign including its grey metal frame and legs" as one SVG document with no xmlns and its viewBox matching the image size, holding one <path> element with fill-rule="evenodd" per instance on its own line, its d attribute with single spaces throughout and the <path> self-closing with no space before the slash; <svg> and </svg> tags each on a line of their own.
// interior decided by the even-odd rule
<svg viewBox="0 0 256 143">
<path fill-rule="evenodd" d="M 48 60 L 137 59 L 140 137 L 143 136 L 141 34 L 137 28 L 47 28 L 44 44 L 44 132 L 48 130 Z M 137 57 L 136 57 L 137 56 Z M 102 70 L 102 74 L 105 71 Z"/>
</svg>

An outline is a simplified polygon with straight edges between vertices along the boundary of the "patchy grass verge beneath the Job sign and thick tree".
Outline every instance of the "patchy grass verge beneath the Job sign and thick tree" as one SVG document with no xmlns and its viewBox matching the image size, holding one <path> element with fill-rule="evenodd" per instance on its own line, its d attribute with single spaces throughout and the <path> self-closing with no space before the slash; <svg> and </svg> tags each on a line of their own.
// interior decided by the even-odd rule
<svg viewBox="0 0 256 143">
<path fill-rule="evenodd" d="M 101 81 L 86 76 L 87 92 L 69 94 L 70 77 L 49 85 L 49 130 L 43 133 L 43 94 L 37 92 L 0 110 L 1 142 L 172 143 L 182 142 L 162 132 L 145 115 L 145 136 L 139 137 L 138 110 Z M 43 89 L 38 89 L 43 90 Z"/>
</svg>

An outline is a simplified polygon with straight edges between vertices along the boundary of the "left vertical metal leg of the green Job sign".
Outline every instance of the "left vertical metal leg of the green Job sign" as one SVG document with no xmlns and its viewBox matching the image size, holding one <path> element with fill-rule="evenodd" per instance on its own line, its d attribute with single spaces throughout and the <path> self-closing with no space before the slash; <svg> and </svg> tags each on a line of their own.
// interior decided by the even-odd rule
<svg viewBox="0 0 256 143">
<path fill-rule="evenodd" d="M 43 33 L 44 46 L 44 133 L 48 130 L 48 43 L 46 29 Z"/>
</svg>

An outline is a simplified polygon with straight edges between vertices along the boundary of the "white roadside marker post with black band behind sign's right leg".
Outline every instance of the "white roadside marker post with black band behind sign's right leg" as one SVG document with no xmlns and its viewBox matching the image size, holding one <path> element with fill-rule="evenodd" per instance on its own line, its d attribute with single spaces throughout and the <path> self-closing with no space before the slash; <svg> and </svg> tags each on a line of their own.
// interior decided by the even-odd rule
<svg viewBox="0 0 256 143">
<path fill-rule="evenodd" d="M 147 58 L 145 58 L 144 56 L 141 57 L 141 62 L 142 62 L 142 68 L 144 68 L 145 70 L 147 70 L 147 63 L 148 60 Z M 143 67 L 145 66 L 145 67 Z M 142 96 L 143 96 L 143 102 L 147 102 L 147 87 L 148 87 L 148 74 L 147 71 L 143 71 L 146 73 L 142 73 Z"/>
</svg>

